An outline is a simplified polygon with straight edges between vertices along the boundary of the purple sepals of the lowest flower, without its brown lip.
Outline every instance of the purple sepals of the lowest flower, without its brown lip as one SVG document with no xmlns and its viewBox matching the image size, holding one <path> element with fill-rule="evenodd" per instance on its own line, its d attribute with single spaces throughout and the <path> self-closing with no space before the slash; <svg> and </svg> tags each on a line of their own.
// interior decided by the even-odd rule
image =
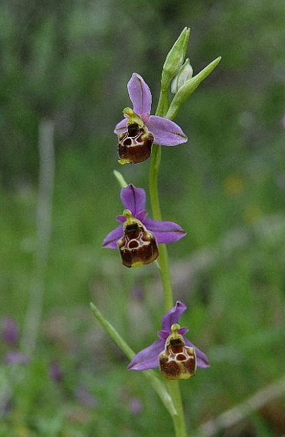
<svg viewBox="0 0 285 437">
<path fill-rule="evenodd" d="M 154 341 L 152 345 L 148 346 L 145 349 L 142 349 L 138 354 L 133 357 L 129 366 L 127 366 L 128 370 L 149 370 L 150 368 L 159 367 L 159 354 L 163 352 L 166 346 L 166 340 L 168 336 L 171 334 L 171 327 L 173 324 L 177 324 L 180 316 L 187 309 L 187 306 L 177 301 L 175 307 L 171 308 L 168 313 L 163 315 L 162 317 L 162 330 L 158 331 L 157 335 L 159 336 L 159 340 Z M 183 336 L 185 345 L 190 348 L 194 348 L 196 352 L 196 363 L 197 367 L 207 368 L 210 366 L 209 361 L 207 359 L 207 355 L 204 354 L 201 350 L 196 348 L 196 346 L 188 340 L 188 338 L 184 337 L 188 331 L 187 328 L 180 328 L 178 333 Z"/>
</svg>

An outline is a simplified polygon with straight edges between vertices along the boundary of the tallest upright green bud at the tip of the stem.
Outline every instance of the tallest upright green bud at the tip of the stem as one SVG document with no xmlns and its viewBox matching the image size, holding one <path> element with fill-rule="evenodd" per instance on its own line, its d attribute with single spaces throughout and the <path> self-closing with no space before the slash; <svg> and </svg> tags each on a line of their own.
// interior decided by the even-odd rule
<svg viewBox="0 0 285 437">
<path fill-rule="evenodd" d="M 173 48 L 166 57 L 166 61 L 163 64 L 162 76 L 161 76 L 161 89 L 167 89 L 170 81 L 174 78 L 175 74 L 182 66 L 184 57 L 187 52 L 187 46 L 189 42 L 190 29 L 184 27 L 177 41 L 175 41 Z"/>
</svg>

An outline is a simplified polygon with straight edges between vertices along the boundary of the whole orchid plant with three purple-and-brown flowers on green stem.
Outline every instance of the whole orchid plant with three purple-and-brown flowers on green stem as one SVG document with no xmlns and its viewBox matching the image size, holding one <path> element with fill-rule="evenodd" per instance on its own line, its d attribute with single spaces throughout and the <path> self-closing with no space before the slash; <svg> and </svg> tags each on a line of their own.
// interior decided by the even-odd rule
<svg viewBox="0 0 285 437">
<path fill-rule="evenodd" d="M 121 173 L 115 171 L 121 185 L 122 215 L 117 215 L 119 226 L 103 240 L 103 248 L 116 249 L 122 264 L 129 268 L 156 262 L 163 285 L 165 314 L 159 339 L 138 353 L 133 352 L 112 325 L 105 320 L 98 308 L 91 303 L 92 311 L 105 331 L 131 360 L 128 370 L 143 371 L 150 384 L 173 418 L 176 437 L 186 437 L 179 380 L 191 378 L 196 368 L 209 367 L 207 355 L 185 336 L 188 329 L 180 327 L 179 319 L 187 306 L 177 300 L 174 304 L 166 244 L 175 243 L 186 236 L 186 231 L 175 222 L 161 219 L 158 191 L 158 173 L 161 146 L 175 146 L 187 142 L 187 136 L 172 119 L 183 103 L 220 61 L 211 64 L 193 76 L 189 59 L 184 61 L 190 30 L 185 28 L 171 48 L 163 64 L 161 92 L 155 115 L 150 115 L 152 94 L 145 80 L 133 73 L 127 90 L 133 108 L 123 110 L 124 119 L 115 127 L 118 138 L 119 164 L 139 164 L 150 157 L 149 196 L 152 216 L 145 210 L 145 189 L 127 184 Z M 192 77 L 193 76 L 193 77 Z M 168 89 L 175 94 L 169 102 Z M 161 377 L 154 368 L 159 368 Z"/>
</svg>

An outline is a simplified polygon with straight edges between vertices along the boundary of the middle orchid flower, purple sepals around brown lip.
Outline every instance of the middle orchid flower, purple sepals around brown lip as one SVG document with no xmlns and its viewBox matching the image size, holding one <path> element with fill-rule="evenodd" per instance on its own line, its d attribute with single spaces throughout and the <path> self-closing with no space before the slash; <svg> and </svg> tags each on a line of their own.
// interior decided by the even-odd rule
<svg viewBox="0 0 285 437">
<path fill-rule="evenodd" d="M 121 189 L 123 215 L 121 224 L 105 237 L 103 248 L 117 249 L 126 267 L 138 267 L 153 262 L 159 256 L 159 243 L 173 243 L 186 235 L 179 224 L 147 218 L 145 190 L 129 184 Z"/>
</svg>

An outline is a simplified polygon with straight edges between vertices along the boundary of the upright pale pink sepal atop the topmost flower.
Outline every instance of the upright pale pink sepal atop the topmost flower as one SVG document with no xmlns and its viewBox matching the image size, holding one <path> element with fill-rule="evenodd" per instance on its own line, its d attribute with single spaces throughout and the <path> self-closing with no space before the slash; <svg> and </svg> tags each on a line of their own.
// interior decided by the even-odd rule
<svg viewBox="0 0 285 437">
<path fill-rule="evenodd" d="M 152 107 L 152 93 L 145 80 L 138 73 L 133 73 L 127 85 L 133 110 L 136 114 L 150 114 Z"/>
</svg>

